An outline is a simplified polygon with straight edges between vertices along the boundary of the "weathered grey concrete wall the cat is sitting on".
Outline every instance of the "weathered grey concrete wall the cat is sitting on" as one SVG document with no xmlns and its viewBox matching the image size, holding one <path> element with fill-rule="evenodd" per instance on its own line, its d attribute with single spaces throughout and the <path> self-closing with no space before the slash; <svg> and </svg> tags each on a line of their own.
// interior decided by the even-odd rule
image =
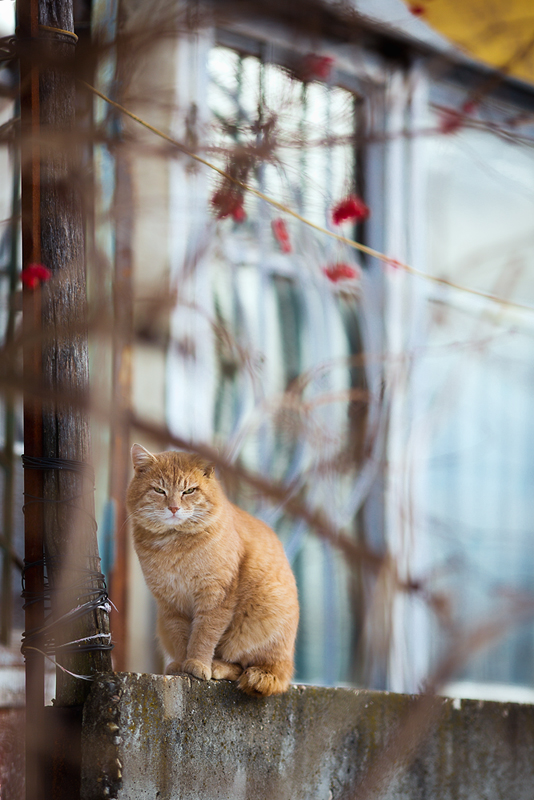
<svg viewBox="0 0 534 800">
<path fill-rule="evenodd" d="M 394 775 L 369 797 L 532 800 L 534 706 L 439 699 L 400 769 L 383 745 L 416 702 L 302 686 L 255 699 L 224 681 L 110 674 L 85 707 L 82 800 L 358 800 L 377 756 Z"/>
</svg>

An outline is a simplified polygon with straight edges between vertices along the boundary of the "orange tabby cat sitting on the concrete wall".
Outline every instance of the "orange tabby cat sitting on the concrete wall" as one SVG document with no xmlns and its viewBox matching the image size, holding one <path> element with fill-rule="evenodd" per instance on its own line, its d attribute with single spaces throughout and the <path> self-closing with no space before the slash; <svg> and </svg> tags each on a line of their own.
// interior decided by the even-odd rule
<svg viewBox="0 0 534 800">
<path fill-rule="evenodd" d="M 167 672 L 281 694 L 293 673 L 298 599 L 274 531 L 225 496 L 200 456 L 134 444 L 127 505 L 158 604 Z"/>
</svg>

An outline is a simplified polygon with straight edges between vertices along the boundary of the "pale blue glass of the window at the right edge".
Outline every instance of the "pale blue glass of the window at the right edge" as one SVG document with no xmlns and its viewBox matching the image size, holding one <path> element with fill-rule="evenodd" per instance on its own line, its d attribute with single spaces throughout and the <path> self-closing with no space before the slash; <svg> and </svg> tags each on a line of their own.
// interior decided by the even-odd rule
<svg viewBox="0 0 534 800">
<path fill-rule="evenodd" d="M 424 148 L 428 271 L 534 304 L 532 147 L 462 128 L 428 137 Z M 418 535 L 427 570 L 459 628 L 509 615 L 506 636 L 463 677 L 532 685 L 534 626 L 518 625 L 512 609 L 534 599 L 534 317 L 435 284 L 421 291 L 408 439 L 424 464 Z"/>
</svg>

